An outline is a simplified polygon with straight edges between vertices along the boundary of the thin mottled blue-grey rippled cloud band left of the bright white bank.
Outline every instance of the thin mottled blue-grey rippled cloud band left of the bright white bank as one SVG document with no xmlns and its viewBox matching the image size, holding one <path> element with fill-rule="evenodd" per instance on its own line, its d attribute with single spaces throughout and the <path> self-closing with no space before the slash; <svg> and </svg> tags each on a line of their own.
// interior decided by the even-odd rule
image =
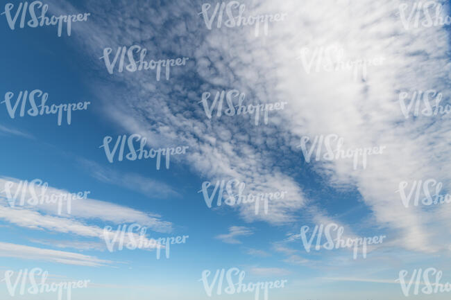
<svg viewBox="0 0 451 300">
<path fill-rule="evenodd" d="M 130 7 L 130 3 L 126 4 L 126 7 L 130 9 L 130 11 L 124 12 L 126 15 L 134 11 L 135 8 L 146 10 L 147 6 L 145 4 L 143 8 L 141 4 L 139 6 L 132 4 Z M 69 6 L 68 3 L 60 5 Z M 149 11 L 152 10 L 151 7 L 148 8 Z M 248 89 L 253 82 L 241 82 L 239 77 L 233 78 L 233 76 L 230 76 L 231 66 L 209 67 L 201 64 L 205 60 L 212 60 L 214 64 L 219 64 L 217 53 L 226 51 L 226 49 L 216 47 L 222 47 L 221 42 L 226 39 L 221 39 L 221 42 L 218 42 L 215 40 L 216 35 L 207 35 L 205 39 L 201 37 L 201 34 L 206 33 L 206 31 L 203 27 L 204 24 L 198 22 L 198 8 L 200 8 L 200 4 L 198 7 L 193 6 L 192 3 L 177 5 L 176 10 L 185 10 L 196 16 L 196 20 L 186 20 L 189 22 L 188 26 L 182 26 L 183 21 L 178 20 L 181 24 L 180 27 L 175 26 L 177 30 L 168 30 L 167 33 L 162 35 L 161 40 L 178 39 L 178 37 L 192 35 L 178 48 L 169 44 L 161 44 L 156 47 L 143 37 L 143 35 L 150 34 L 144 34 L 142 31 L 144 28 L 153 26 L 153 22 L 160 23 L 162 19 L 169 18 L 169 16 L 163 15 L 150 19 L 148 23 L 143 22 L 140 24 L 140 28 L 123 28 L 116 23 L 109 24 L 108 18 L 103 19 L 103 12 L 98 12 L 96 19 L 93 19 L 92 22 L 80 24 L 78 33 L 80 37 L 83 36 L 83 39 L 79 39 L 79 42 L 83 44 L 84 50 L 96 58 L 101 56 L 104 47 L 115 47 L 119 44 L 131 45 L 133 42 L 146 47 L 149 58 L 164 57 L 164 51 L 176 52 L 178 56 L 188 56 L 194 60 L 188 61 L 187 70 L 189 68 L 194 69 L 193 71 L 196 71 L 205 81 L 204 85 L 201 87 L 183 85 L 184 82 L 180 81 L 180 76 L 187 70 L 177 71 L 175 69 L 171 73 L 169 82 L 165 80 L 155 82 L 155 74 L 143 71 L 135 72 L 132 76 L 117 73 L 108 77 L 109 80 L 112 80 L 112 85 L 114 85 L 115 80 L 123 82 L 126 86 L 124 90 L 113 90 L 105 85 L 96 85 L 95 92 L 99 98 L 105 100 L 105 112 L 108 116 L 126 132 L 146 136 L 149 146 L 188 145 L 187 155 L 182 158 L 173 157 L 171 164 L 188 163 L 198 174 L 210 180 L 236 177 L 241 182 L 246 182 L 246 192 L 248 193 L 288 192 L 287 197 L 284 197 L 283 200 L 274 200 L 269 203 L 268 214 L 255 215 L 252 205 L 241 204 L 239 213 L 246 221 L 265 220 L 271 223 L 286 223 L 296 220 L 294 212 L 302 208 L 305 202 L 303 193 L 294 179 L 282 170 L 273 168 L 276 158 L 270 158 L 268 156 L 270 152 L 268 150 L 262 151 L 261 148 L 266 143 L 265 137 L 275 132 L 274 123 L 270 124 L 267 130 L 262 130 L 261 137 L 254 137 L 252 127 L 249 131 L 243 130 L 250 125 L 253 126 L 252 120 L 247 119 L 248 116 L 244 117 L 246 120 L 235 116 L 234 118 L 221 118 L 219 121 L 216 119 L 207 121 L 201 105 L 198 104 L 203 91 L 216 88 L 216 85 L 212 82 L 226 82 L 230 87 L 242 89 L 249 93 L 248 98 L 250 100 L 255 98 L 255 96 L 252 96 L 254 91 Z M 91 10 L 91 8 L 89 9 Z M 171 8 L 167 9 L 171 10 Z M 91 11 L 94 10 L 96 8 L 92 7 Z M 184 30 L 180 31 L 180 28 L 184 28 Z M 186 32 L 188 28 L 192 29 Z M 193 30 L 193 28 L 196 29 Z M 152 35 L 160 34 L 155 30 L 151 31 Z M 236 39 L 234 37 L 236 33 L 235 31 L 235 33 L 232 32 L 227 35 L 233 40 Z M 77 40 L 77 36 L 74 36 L 73 40 Z M 203 42 L 198 44 L 201 40 Z M 238 40 L 237 42 L 241 43 Z M 228 54 L 225 57 L 228 60 L 231 59 Z M 194 65 L 194 61 L 199 62 L 199 64 Z M 99 60 L 96 64 L 101 73 L 105 71 L 105 64 L 102 65 L 102 63 Z M 212 73 L 214 67 L 223 69 L 216 69 Z M 234 71 L 237 71 L 237 75 L 242 73 L 240 70 Z M 219 78 L 219 73 L 223 73 L 224 76 L 229 78 Z M 157 85 L 158 89 L 156 88 Z M 260 82 L 256 88 L 262 86 Z M 149 98 L 149 93 L 152 93 L 153 97 Z M 262 96 L 259 101 L 269 102 L 266 96 L 259 94 L 257 96 Z M 145 100 L 143 100 L 144 98 Z M 169 105 L 169 103 L 171 104 Z M 133 109 L 130 110 L 130 107 L 133 107 Z M 280 122 L 280 118 L 277 119 L 278 121 L 275 121 L 275 123 Z M 236 139 L 229 139 L 232 135 Z"/>
</svg>

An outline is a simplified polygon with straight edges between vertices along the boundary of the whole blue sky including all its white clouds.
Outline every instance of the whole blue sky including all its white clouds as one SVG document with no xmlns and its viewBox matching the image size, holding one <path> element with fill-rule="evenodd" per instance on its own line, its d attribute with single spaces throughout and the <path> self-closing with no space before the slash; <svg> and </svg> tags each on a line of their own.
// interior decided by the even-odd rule
<svg viewBox="0 0 451 300">
<path fill-rule="evenodd" d="M 429 1 L 428 9 L 397 0 L 230 1 L 222 15 L 221 6 L 213 15 L 219 2 L 197 0 L 42 2 L 48 17 L 90 15 L 72 22 L 70 35 L 63 24 L 60 36 L 58 26 L 21 28 L 22 17 L 31 19 L 25 14 L 11 29 L 8 17 L 19 1 L 5 2 L 13 8 L 0 15 L 1 299 L 58 299 L 56 292 L 19 288 L 10 294 L 8 270 L 33 268 L 48 272 L 49 282 L 89 280 L 71 291 L 74 300 L 257 299 L 254 292 L 219 294 L 216 285 L 208 295 L 205 270 L 210 285 L 216 270 L 232 268 L 245 272 L 245 283 L 286 280 L 269 290 L 274 300 L 449 299 L 449 292 L 413 289 L 407 297 L 399 282 L 402 270 L 408 281 L 427 268 L 451 282 L 451 204 L 405 205 L 419 181 L 420 200 L 429 188 L 451 193 L 451 114 L 428 115 L 423 100 L 409 102 L 431 91 L 430 99 L 440 94 L 440 105 L 451 105 L 450 26 L 428 22 L 439 5 L 439 15 L 450 16 L 449 2 Z M 262 22 L 258 31 L 232 26 L 228 13 L 238 18 L 239 6 L 245 17 L 284 17 L 267 27 Z M 146 62 L 173 60 L 170 71 L 161 65 L 158 76 L 156 64 L 128 71 L 128 53 L 120 71 L 117 49 L 134 45 L 146 48 Z M 130 51 L 136 61 L 139 49 Z M 327 53 L 331 63 L 383 59 L 352 71 L 323 67 Z M 89 105 L 71 112 L 70 124 L 67 112 L 60 125 L 56 114 L 20 116 L 20 103 L 32 106 L 16 102 L 19 93 L 34 90 L 36 103 L 47 93 L 49 106 Z M 219 115 L 212 105 L 221 91 Z M 403 93 L 407 100 L 400 100 Z M 240 97 L 244 105 L 274 109 L 266 120 L 262 110 L 258 121 L 255 113 L 232 114 L 229 100 L 237 107 Z M 405 103 L 419 105 L 419 113 Z M 18 105 L 14 118 L 8 104 Z M 173 150 L 169 161 L 162 155 L 159 168 L 156 158 L 128 159 L 133 134 L 135 149 L 142 143 L 147 151 L 185 151 Z M 332 141 L 332 148 L 341 138 L 343 149 L 384 150 L 366 164 L 359 157 L 357 166 L 349 158 L 325 159 L 325 146 L 309 159 L 305 136 L 307 150 L 315 138 Z M 85 197 L 72 200 L 70 211 L 20 200 L 12 206 L 8 193 L 35 179 L 46 182 L 46 195 Z M 216 182 L 224 183 L 221 206 Z M 274 195 L 266 211 L 260 202 L 255 213 L 255 200 L 224 203 L 240 183 L 243 195 Z M 132 224 L 146 227 L 148 240 L 187 237 L 170 250 L 154 243 L 110 252 L 105 228 L 114 235 Z M 368 245 L 365 256 L 361 248 L 354 257 L 350 248 L 323 243 L 316 250 L 316 239 L 307 251 L 303 228 L 308 240 L 315 226 L 330 224 L 343 227 L 345 238 L 384 239 Z"/>
</svg>

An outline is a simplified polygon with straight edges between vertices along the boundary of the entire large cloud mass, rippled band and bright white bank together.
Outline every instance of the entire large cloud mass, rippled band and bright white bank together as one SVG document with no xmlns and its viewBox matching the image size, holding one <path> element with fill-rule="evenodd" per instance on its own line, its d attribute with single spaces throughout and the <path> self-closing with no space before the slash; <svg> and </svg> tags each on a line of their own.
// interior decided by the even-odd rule
<svg viewBox="0 0 451 300">
<path fill-rule="evenodd" d="M 368 157 L 366 170 L 353 170 L 349 160 L 311 164 L 326 184 L 357 189 L 371 210 L 368 219 L 389 231 L 400 247 L 431 253 L 443 250 L 441 241 L 450 234 L 450 221 L 440 211 L 405 209 L 394 191 L 400 181 L 430 177 L 449 189 L 451 119 L 406 119 L 398 93 L 436 89 L 445 98 L 450 96 L 449 36 L 440 26 L 405 30 L 398 14 L 400 3 L 357 1 L 345 6 L 343 1 L 327 0 L 318 6 L 311 0 L 299 6 L 291 0 L 246 6 L 253 12 L 289 12 L 284 21 L 271 24 L 269 37 L 255 37 L 252 27 L 207 30 L 198 18 L 200 4 L 178 4 L 178 10 L 196 19 L 160 15 L 137 27 L 111 21 L 114 17 L 102 19 L 103 12 L 97 11 L 98 21 L 79 28 L 80 44 L 95 58 L 105 46 L 133 42 L 148 48 L 149 57 L 176 53 L 192 58 L 188 71 L 171 73 L 169 82 L 155 82 L 154 74 L 143 71 L 108 77 L 113 85 L 122 82 L 124 89 L 93 85 L 107 104 L 108 116 L 126 132 L 147 136 L 151 146 L 189 145 L 186 160 L 175 160 L 189 164 L 202 177 L 236 177 L 254 193 L 289 191 L 286 199 L 270 203 L 268 215 L 255 215 L 252 205 L 241 205 L 239 213 L 247 222 L 294 222 L 300 209 L 321 205 L 311 200 L 306 206 L 296 181 L 303 172 L 293 166 L 301 158 L 295 146 L 300 136 L 338 134 L 346 148 L 385 145 L 384 155 Z M 147 8 L 141 3 L 124 7 L 125 16 Z M 146 30 L 169 19 L 180 26 L 167 28 L 164 35 Z M 183 40 L 179 45 L 163 42 L 178 39 Z M 155 40 L 162 42 L 155 45 Z M 381 67 L 368 68 L 366 80 L 354 80 L 346 72 L 307 74 L 296 60 L 303 46 L 335 43 L 343 46 L 350 59 L 382 55 L 386 60 Z M 106 74 L 100 60 L 97 67 Z M 195 73 L 200 83 L 196 86 L 194 80 L 185 85 L 183 72 Z M 272 115 L 271 124 L 257 127 L 247 116 L 207 120 L 200 95 L 223 87 L 239 89 L 246 98 L 261 103 L 283 99 L 289 109 Z M 325 211 L 325 215 L 333 213 Z"/>
</svg>

